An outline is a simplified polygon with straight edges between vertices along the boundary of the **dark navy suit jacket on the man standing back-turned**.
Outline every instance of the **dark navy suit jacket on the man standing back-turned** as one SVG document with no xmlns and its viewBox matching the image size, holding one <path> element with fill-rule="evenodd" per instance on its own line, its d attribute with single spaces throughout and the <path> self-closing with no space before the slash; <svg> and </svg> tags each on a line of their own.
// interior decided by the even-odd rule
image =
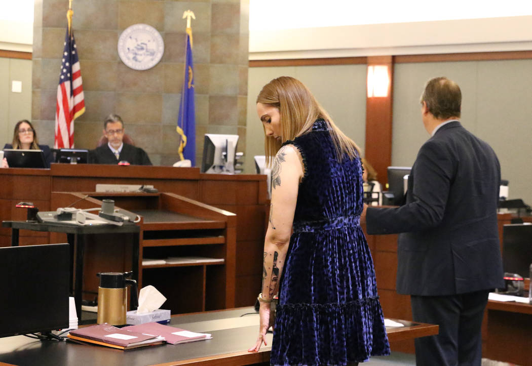
<svg viewBox="0 0 532 366">
<path fill-rule="evenodd" d="M 368 234 L 399 235 L 397 292 L 435 296 L 504 287 L 497 202 L 501 169 L 489 145 L 460 122 L 418 152 L 406 203 L 368 208 Z"/>
</svg>

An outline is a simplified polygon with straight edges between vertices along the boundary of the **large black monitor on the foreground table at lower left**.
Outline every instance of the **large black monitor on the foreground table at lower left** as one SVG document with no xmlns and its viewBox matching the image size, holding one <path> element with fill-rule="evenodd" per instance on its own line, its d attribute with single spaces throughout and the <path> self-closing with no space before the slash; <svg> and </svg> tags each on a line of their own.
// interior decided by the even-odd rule
<svg viewBox="0 0 532 366">
<path fill-rule="evenodd" d="M 69 327 L 69 244 L 0 248 L 0 337 Z"/>
</svg>

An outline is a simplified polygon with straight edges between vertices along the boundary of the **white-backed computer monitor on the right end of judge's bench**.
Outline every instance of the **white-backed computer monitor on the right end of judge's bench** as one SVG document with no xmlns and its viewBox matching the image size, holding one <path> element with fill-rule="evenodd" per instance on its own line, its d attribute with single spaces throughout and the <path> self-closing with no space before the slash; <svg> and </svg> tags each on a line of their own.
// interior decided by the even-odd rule
<svg viewBox="0 0 532 366">
<path fill-rule="evenodd" d="M 237 144 L 238 135 L 206 133 L 202 173 L 234 173 Z"/>
</svg>

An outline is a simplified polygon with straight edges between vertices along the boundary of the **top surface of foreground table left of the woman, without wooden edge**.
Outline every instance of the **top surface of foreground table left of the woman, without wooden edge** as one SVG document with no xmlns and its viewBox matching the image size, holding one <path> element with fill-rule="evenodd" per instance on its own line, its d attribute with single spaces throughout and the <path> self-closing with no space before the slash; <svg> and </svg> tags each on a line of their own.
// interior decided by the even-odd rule
<svg viewBox="0 0 532 366">
<path fill-rule="evenodd" d="M 227 323 L 227 319 L 239 318 L 242 314 L 251 312 L 254 312 L 254 310 L 250 307 L 172 317 L 170 325 L 176 327 L 186 325 L 186 330 L 211 333 L 213 338 L 206 341 L 176 345 L 163 344 L 160 346 L 140 347 L 128 351 L 73 342 L 41 342 L 24 336 L 0 338 L 0 362 L 15 365 L 39 364 L 41 366 L 132 366 L 203 358 L 205 356 L 238 351 L 247 352 L 247 349 L 254 344 L 258 335 L 259 327 L 257 325 L 219 330 L 211 329 L 227 327 L 227 325 L 216 324 L 217 320 Z M 258 319 L 257 314 L 251 314 L 243 318 L 245 317 Z M 253 319 L 249 321 L 253 322 Z M 211 329 L 204 329 L 203 327 Z M 271 337 L 272 335 L 269 334 L 270 342 Z M 270 347 L 263 348 L 264 351 L 270 350 Z"/>
</svg>

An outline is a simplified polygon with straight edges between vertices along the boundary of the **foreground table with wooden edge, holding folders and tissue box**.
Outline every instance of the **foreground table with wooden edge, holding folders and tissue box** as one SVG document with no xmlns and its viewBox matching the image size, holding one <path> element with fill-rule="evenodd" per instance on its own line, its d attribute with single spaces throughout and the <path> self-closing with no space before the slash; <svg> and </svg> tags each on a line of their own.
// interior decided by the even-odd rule
<svg viewBox="0 0 532 366">
<path fill-rule="evenodd" d="M 247 315 L 244 315 L 247 314 Z M 436 334 L 438 327 L 401 321 L 405 327 L 388 328 L 388 338 L 423 337 Z M 259 316 L 252 307 L 209 311 L 173 316 L 170 325 L 212 334 L 212 339 L 177 345 L 140 347 L 129 351 L 71 342 L 40 342 L 24 336 L 0 338 L 0 362 L 15 365 L 200 365 L 239 366 L 268 362 L 272 334 L 267 335 L 268 347 L 251 353 L 259 331 Z"/>
</svg>

